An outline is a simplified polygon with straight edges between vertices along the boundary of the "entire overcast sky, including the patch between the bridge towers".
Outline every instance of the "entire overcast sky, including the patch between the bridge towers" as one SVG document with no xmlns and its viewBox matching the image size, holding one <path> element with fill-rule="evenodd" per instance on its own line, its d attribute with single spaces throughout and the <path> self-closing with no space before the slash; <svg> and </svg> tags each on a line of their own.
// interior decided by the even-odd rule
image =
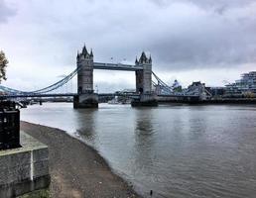
<svg viewBox="0 0 256 198">
<path fill-rule="evenodd" d="M 84 43 L 95 61 L 133 63 L 145 50 L 168 83 L 220 86 L 256 70 L 256 0 L 0 0 L 4 85 L 59 80 Z M 95 71 L 94 82 L 100 92 L 134 88 L 134 75 Z"/>
</svg>

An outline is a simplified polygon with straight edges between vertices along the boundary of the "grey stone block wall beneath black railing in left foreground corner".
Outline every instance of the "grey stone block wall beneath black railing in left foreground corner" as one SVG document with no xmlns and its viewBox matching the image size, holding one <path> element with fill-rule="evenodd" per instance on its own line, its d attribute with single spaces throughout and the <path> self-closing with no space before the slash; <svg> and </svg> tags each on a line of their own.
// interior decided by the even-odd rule
<svg viewBox="0 0 256 198">
<path fill-rule="evenodd" d="M 0 197 L 15 197 L 50 185 L 47 146 L 24 132 L 21 145 L 0 150 Z"/>
</svg>

